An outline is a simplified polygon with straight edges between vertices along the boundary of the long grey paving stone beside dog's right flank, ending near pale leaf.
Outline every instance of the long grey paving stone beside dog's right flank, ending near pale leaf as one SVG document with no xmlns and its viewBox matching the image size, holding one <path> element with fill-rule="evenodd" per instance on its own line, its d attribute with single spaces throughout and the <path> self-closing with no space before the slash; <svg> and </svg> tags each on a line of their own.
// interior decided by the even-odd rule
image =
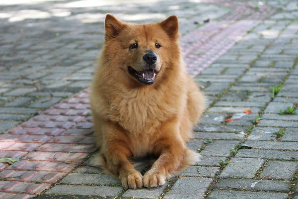
<svg viewBox="0 0 298 199">
<path fill-rule="evenodd" d="M 204 140 L 239 140 L 242 139 L 244 135 L 235 134 L 235 133 L 213 133 L 213 132 L 195 132 L 194 138 L 196 139 L 204 139 Z"/>
</svg>

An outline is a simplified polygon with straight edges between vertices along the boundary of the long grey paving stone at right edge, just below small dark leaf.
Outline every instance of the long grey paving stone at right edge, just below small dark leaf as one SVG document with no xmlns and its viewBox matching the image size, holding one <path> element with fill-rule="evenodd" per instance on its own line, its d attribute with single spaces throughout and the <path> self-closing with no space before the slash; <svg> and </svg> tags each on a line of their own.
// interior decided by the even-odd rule
<svg viewBox="0 0 298 199">
<path fill-rule="evenodd" d="M 297 151 L 240 149 L 235 157 L 297 161 L 298 153 Z"/>
</svg>

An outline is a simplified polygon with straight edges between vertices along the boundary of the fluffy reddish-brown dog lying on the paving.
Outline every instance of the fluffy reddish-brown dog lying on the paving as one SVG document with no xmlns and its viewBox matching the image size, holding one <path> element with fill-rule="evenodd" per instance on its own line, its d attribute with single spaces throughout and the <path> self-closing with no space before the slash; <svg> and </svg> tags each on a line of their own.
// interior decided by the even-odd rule
<svg viewBox="0 0 298 199">
<path fill-rule="evenodd" d="M 199 160 L 188 149 L 204 96 L 187 76 L 178 42 L 178 19 L 150 24 L 105 19 L 105 43 L 90 103 L 100 154 L 93 162 L 124 188 L 157 187 Z M 157 156 L 144 177 L 131 157 Z"/>
</svg>

